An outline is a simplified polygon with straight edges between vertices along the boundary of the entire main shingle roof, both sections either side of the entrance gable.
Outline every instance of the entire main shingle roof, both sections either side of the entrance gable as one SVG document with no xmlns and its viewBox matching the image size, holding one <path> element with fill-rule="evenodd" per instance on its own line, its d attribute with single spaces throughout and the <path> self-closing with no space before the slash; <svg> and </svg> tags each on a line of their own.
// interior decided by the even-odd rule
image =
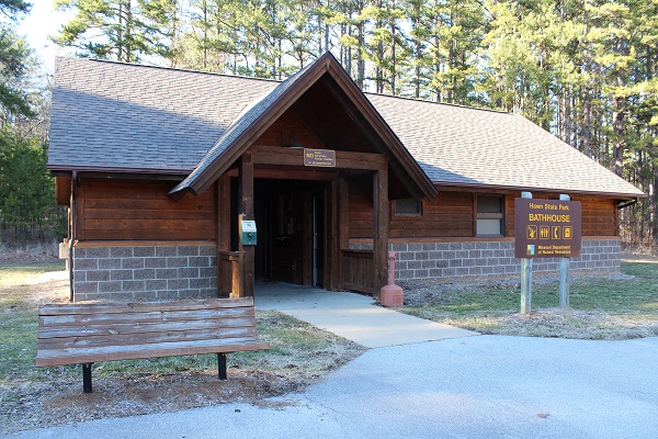
<svg viewBox="0 0 658 439">
<path fill-rule="evenodd" d="M 58 58 L 48 168 L 188 175 L 277 81 Z M 366 94 L 440 185 L 643 196 L 522 116 Z"/>
</svg>

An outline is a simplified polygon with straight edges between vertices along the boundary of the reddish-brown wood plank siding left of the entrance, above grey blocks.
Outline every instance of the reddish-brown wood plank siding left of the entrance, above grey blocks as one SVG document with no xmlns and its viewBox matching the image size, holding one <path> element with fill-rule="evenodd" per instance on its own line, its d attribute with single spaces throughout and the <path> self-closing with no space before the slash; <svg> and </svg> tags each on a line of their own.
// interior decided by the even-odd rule
<svg viewBox="0 0 658 439">
<path fill-rule="evenodd" d="M 84 240 L 215 240 L 215 188 L 173 201 L 170 181 L 82 179 L 77 237 Z"/>
</svg>

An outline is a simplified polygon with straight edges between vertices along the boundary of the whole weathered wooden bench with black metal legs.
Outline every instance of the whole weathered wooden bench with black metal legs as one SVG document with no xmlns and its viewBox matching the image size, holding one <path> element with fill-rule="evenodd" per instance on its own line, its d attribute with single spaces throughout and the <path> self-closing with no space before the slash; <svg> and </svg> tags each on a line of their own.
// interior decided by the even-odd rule
<svg viewBox="0 0 658 439">
<path fill-rule="evenodd" d="M 270 349 L 258 339 L 253 299 L 43 305 L 36 365 L 82 364 L 84 393 L 99 361 Z"/>
</svg>

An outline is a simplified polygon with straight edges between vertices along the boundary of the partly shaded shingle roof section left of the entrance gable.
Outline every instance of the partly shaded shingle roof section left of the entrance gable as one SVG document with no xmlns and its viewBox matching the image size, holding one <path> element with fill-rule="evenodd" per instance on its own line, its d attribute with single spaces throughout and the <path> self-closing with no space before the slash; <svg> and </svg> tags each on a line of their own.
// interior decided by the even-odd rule
<svg viewBox="0 0 658 439">
<path fill-rule="evenodd" d="M 190 173 L 236 115 L 277 83 L 57 58 L 48 167 Z"/>
</svg>

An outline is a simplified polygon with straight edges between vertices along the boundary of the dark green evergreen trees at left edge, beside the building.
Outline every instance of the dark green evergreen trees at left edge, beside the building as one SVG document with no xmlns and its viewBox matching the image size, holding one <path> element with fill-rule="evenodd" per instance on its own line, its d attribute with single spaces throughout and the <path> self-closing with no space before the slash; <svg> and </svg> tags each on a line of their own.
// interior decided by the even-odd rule
<svg viewBox="0 0 658 439">
<path fill-rule="evenodd" d="M 38 131 L 47 105 L 34 87 L 32 50 L 14 29 L 30 9 L 22 0 L 0 0 L 0 244 L 10 245 L 66 234 Z"/>
</svg>

